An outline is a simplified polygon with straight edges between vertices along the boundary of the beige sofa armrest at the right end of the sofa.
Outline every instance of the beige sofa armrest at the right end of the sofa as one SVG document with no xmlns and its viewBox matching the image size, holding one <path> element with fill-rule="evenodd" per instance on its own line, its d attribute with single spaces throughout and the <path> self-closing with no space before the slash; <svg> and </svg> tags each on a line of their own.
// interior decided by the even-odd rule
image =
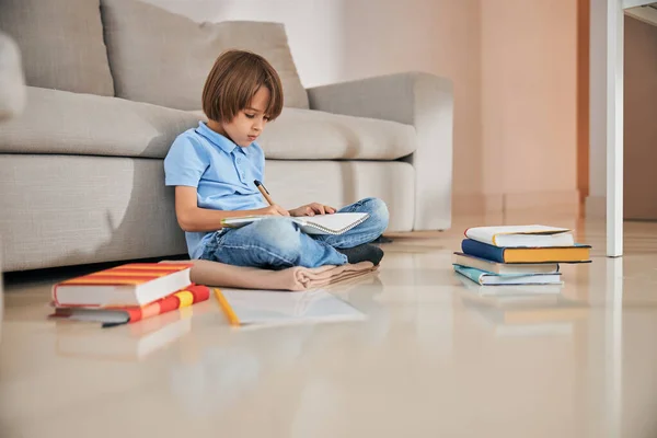
<svg viewBox="0 0 657 438">
<path fill-rule="evenodd" d="M 408 72 L 316 87 L 310 108 L 413 125 L 417 148 L 414 230 L 451 227 L 453 87 L 449 79 Z"/>
</svg>

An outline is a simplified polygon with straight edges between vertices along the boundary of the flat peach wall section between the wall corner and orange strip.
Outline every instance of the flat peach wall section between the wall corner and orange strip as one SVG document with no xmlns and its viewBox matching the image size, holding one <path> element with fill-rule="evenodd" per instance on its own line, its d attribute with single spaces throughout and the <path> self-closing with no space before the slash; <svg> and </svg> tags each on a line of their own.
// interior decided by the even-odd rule
<svg viewBox="0 0 657 438">
<path fill-rule="evenodd" d="M 577 209 L 577 3 L 482 1 L 483 193 Z"/>
</svg>

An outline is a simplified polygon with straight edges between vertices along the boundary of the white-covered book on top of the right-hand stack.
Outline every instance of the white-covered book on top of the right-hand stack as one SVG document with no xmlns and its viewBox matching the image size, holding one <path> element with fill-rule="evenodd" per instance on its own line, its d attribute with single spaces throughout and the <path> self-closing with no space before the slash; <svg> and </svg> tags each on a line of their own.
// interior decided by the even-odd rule
<svg viewBox="0 0 657 438">
<path fill-rule="evenodd" d="M 465 237 L 499 247 L 558 247 L 575 245 L 575 238 L 570 230 L 546 226 L 475 227 L 465 230 Z"/>
</svg>

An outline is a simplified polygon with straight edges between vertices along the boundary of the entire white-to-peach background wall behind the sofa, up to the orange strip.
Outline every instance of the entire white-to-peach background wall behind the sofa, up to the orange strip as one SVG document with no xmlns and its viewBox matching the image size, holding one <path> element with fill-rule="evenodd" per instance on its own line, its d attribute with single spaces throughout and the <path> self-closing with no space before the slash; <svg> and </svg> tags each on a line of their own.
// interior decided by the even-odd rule
<svg viewBox="0 0 657 438">
<path fill-rule="evenodd" d="M 148 0 L 286 25 L 306 87 L 419 70 L 454 83 L 457 214 L 576 204 L 572 0 Z"/>
</svg>

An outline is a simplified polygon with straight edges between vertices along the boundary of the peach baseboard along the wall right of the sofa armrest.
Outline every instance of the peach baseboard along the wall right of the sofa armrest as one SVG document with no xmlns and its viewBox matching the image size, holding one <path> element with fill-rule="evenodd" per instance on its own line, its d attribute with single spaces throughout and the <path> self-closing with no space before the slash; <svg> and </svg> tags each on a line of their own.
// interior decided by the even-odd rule
<svg viewBox="0 0 657 438">
<path fill-rule="evenodd" d="M 545 211 L 551 216 L 578 216 L 578 191 L 529 192 L 507 194 L 454 194 L 454 216 L 498 215 L 522 211 Z"/>
</svg>

